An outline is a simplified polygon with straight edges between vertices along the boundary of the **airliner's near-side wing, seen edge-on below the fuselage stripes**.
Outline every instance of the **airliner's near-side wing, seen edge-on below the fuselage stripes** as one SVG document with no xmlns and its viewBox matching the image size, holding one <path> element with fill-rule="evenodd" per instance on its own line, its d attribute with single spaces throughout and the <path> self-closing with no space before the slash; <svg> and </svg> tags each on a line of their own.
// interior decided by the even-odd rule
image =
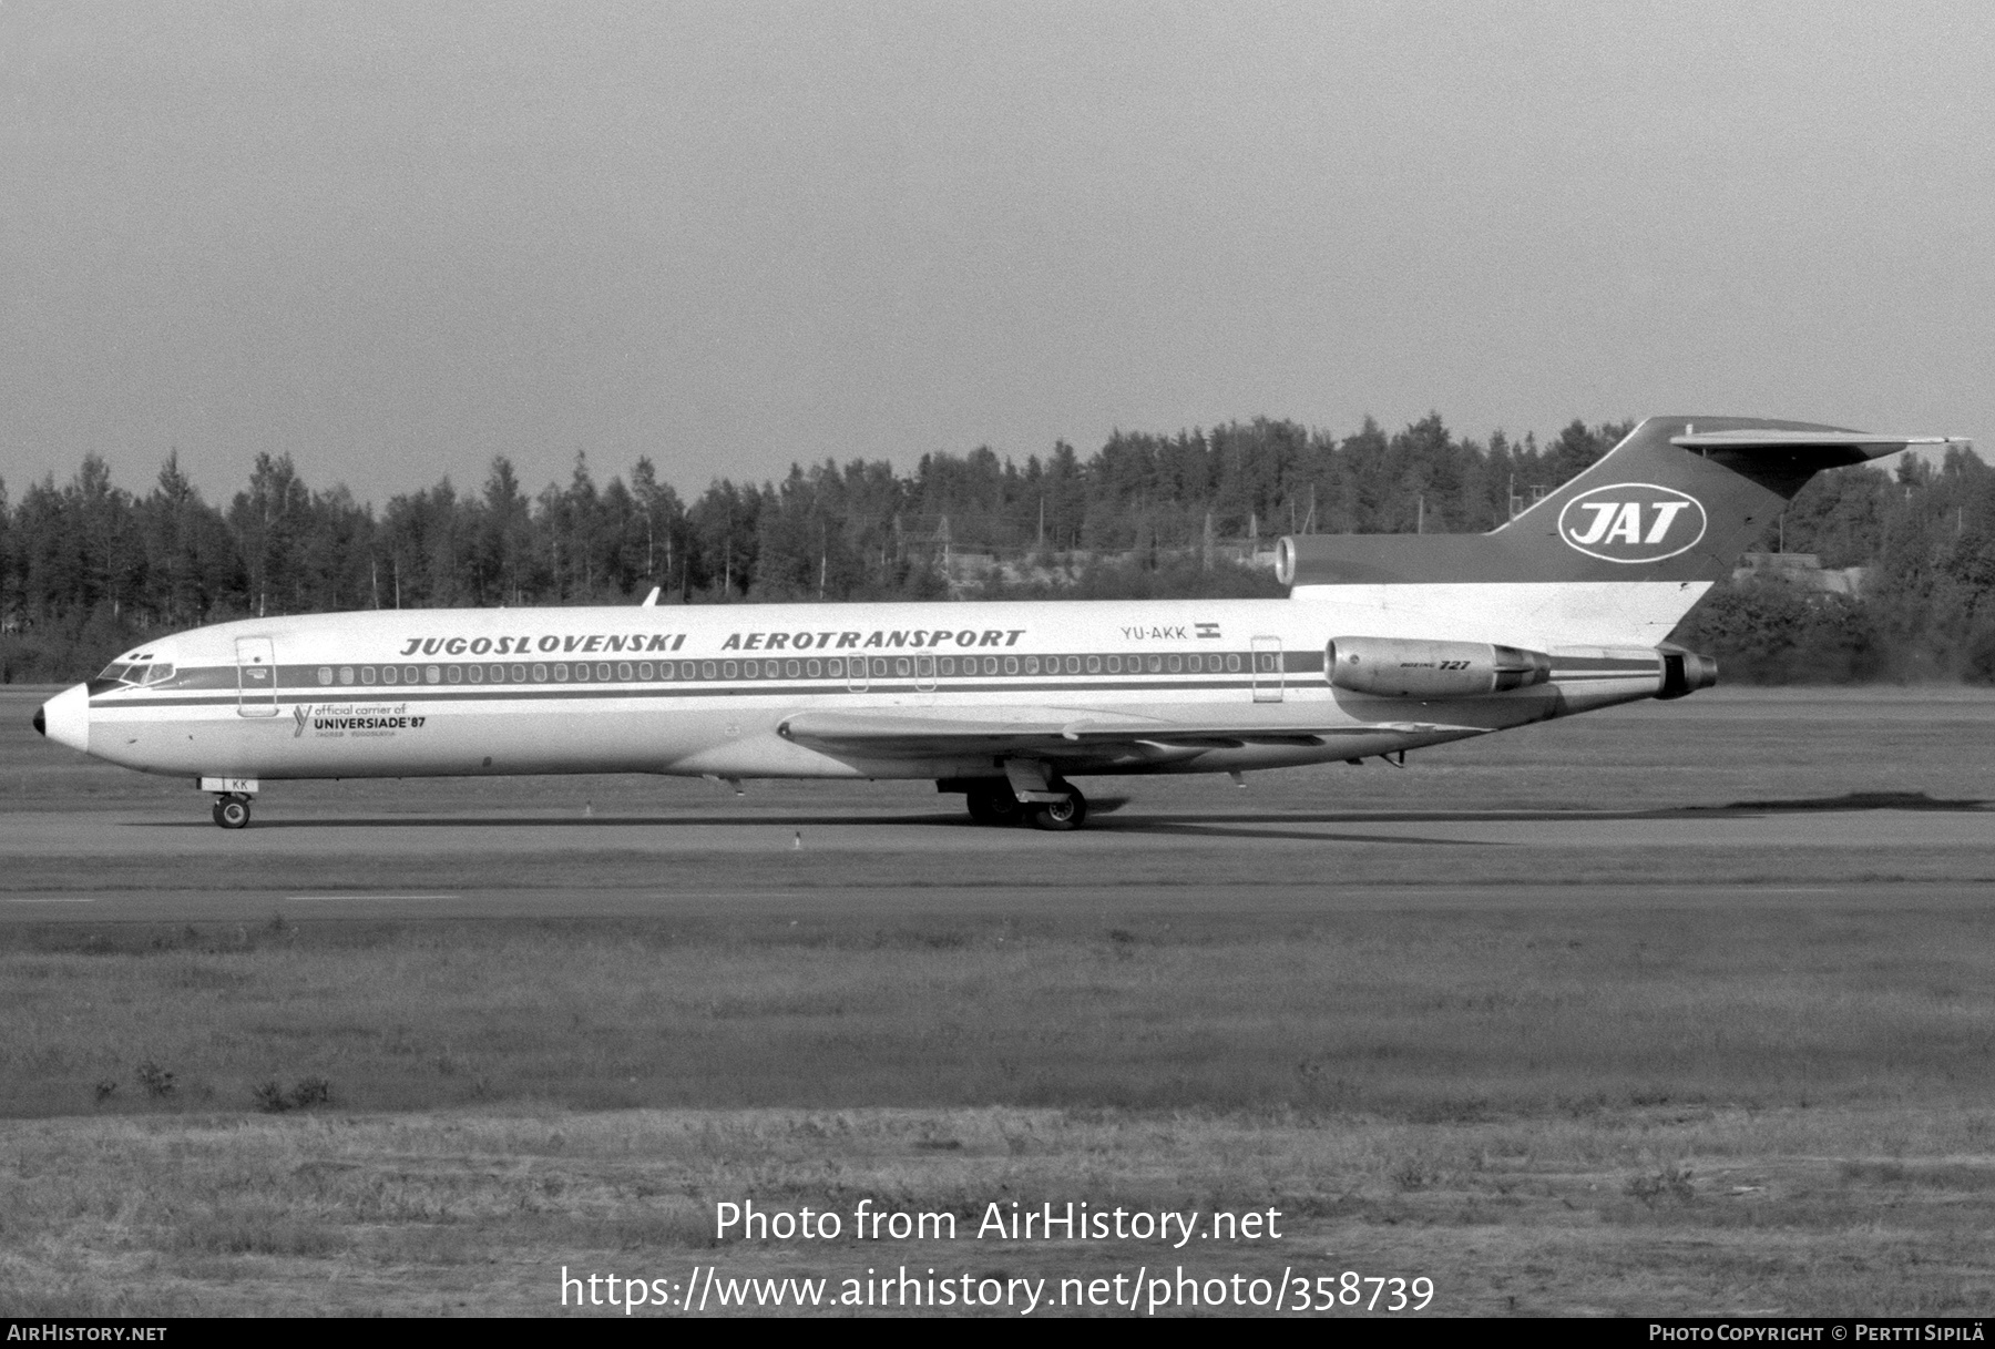
<svg viewBox="0 0 1995 1349">
<path fill-rule="evenodd" d="M 1333 744 L 1341 738 L 1406 734 L 1458 738 L 1484 734 L 1484 726 L 1442 722 L 1343 722 L 1297 720 L 1165 720 L 1119 716 L 1079 708 L 1015 708 L 1017 716 L 962 718 L 920 712 L 796 712 L 776 734 L 826 750 L 934 756 L 934 754 L 1059 754 L 1113 746 L 1231 750 L 1247 744 Z"/>
</svg>

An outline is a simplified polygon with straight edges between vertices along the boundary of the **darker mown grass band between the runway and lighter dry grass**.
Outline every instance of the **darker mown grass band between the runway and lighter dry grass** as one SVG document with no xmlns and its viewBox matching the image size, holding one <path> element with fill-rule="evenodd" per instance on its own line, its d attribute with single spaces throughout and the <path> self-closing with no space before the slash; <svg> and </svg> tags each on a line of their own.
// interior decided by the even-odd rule
<svg viewBox="0 0 1995 1349">
<path fill-rule="evenodd" d="M 361 1112 L 1995 1110 L 1987 914 L 1959 906 L 4 938 L 12 1118 L 247 1110 L 257 1086 L 301 1078 Z M 144 1092 L 146 1062 L 176 1074 L 170 1096 Z"/>
</svg>

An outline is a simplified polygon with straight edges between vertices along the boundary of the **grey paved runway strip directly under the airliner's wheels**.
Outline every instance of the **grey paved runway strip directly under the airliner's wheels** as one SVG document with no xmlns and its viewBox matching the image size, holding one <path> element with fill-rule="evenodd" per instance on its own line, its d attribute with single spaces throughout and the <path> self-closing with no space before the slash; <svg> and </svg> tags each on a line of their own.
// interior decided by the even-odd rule
<svg viewBox="0 0 1995 1349">
<path fill-rule="evenodd" d="M 974 826 L 928 802 L 816 804 L 371 814 L 299 802 L 263 810 L 249 830 L 174 808 L 0 810 L 0 922 L 1995 898 L 1995 812 L 1979 800 L 1598 812 L 1131 806 L 1077 834 Z"/>
</svg>

